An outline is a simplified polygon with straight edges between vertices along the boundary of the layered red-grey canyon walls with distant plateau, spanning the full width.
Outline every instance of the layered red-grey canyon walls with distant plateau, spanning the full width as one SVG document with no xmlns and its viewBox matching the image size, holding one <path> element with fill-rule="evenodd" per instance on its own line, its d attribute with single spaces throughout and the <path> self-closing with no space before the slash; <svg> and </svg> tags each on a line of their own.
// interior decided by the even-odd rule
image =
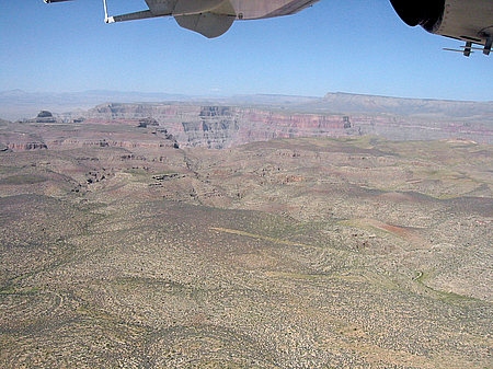
<svg viewBox="0 0 493 369">
<path fill-rule="evenodd" d="M 125 147 L 129 143 L 123 136 L 135 126 L 151 129 L 154 135 L 138 145 L 159 146 L 161 138 L 172 138 L 173 145 L 183 148 L 227 149 L 279 138 L 358 136 L 391 140 L 459 138 L 492 143 L 492 105 L 343 93 L 322 99 L 253 95 L 213 102 L 104 103 L 85 111 L 42 111 L 35 118 L 9 124 L 3 120 L 0 143 L 13 150 L 71 145 Z M 100 125 L 119 127 L 123 136 L 116 129 L 111 137 L 102 132 L 89 142 L 85 131 Z M 46 127 L 53 132 L 72 131 L 72 137 L 58 140 L 56 134 L 43 132 Z"/>
</svg>

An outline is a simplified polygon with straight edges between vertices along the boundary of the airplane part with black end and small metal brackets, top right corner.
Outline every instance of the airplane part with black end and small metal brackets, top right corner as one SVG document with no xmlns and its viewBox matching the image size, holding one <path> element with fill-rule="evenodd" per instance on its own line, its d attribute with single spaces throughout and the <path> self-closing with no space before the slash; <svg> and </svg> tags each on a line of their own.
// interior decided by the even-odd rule
<svg viewBox="0 0 493 369">
<path fill-rule="evenodd" d="M 493 39 L 493 0 L 390 0 L 399 16 L 411 26 L 466 42 L 465 56 L 472 44 L 490 55 Z"/>
</svg>

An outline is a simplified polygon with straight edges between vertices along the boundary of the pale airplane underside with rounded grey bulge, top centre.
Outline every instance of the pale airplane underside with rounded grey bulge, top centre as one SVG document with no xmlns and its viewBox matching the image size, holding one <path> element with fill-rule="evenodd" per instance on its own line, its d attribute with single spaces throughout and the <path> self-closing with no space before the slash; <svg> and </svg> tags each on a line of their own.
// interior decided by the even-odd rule
<svg viewBox="0 0 493 369">
<path fill-rule="evenodd" d="M 289 15 L 319 0 L 146 0 L 152 16 L 174 16 L 184 28 L 217 37 L 234 20 Z"/>
</svg>

